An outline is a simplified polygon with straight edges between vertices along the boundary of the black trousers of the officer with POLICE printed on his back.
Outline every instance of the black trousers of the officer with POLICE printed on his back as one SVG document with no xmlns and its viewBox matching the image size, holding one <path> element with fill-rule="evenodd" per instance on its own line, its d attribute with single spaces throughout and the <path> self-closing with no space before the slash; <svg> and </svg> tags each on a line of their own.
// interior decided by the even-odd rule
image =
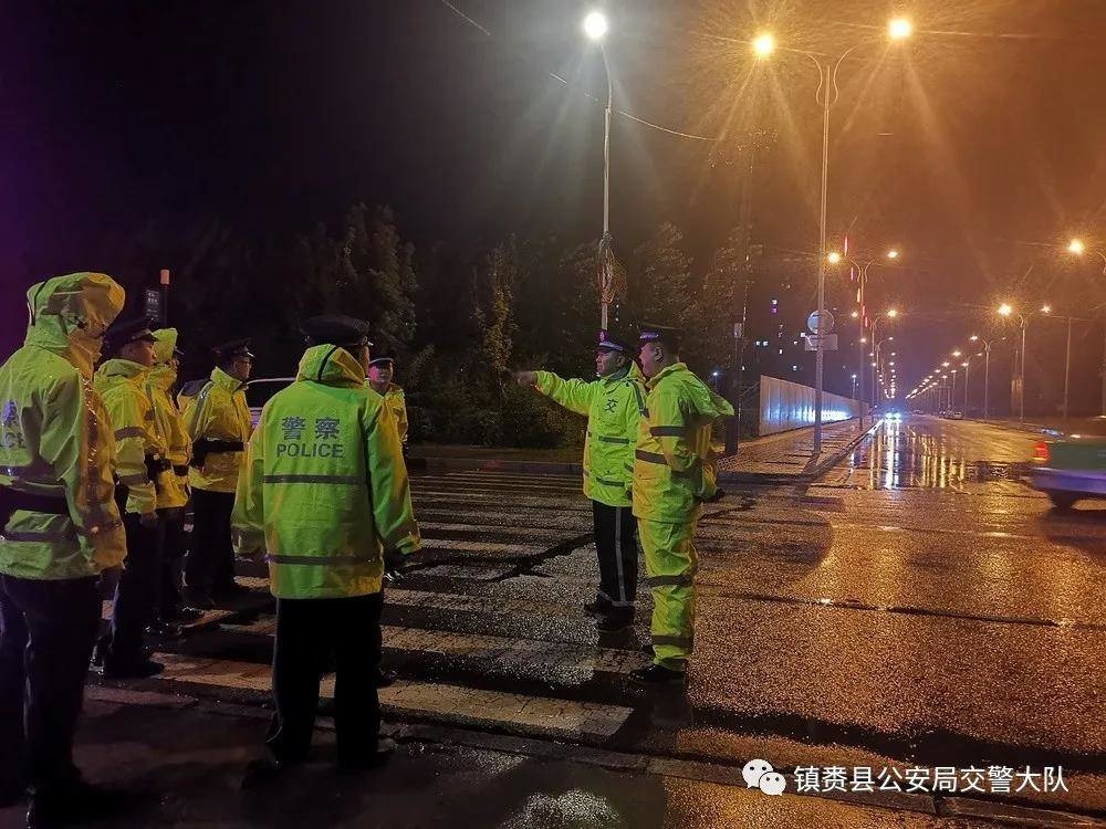
<svg viewBox="0 0 1106 829">
<path fill-rule="evenodd" d="M 273 648 L 273 714 L 267 739 L 273 756 L 307 756 L 319 706 L 319 680 L 333 654 L 334 730 L 338 762 L 376 753 L 380 702 L 380 594 L 345 599 L 279 599 Z"/>
</svg>

